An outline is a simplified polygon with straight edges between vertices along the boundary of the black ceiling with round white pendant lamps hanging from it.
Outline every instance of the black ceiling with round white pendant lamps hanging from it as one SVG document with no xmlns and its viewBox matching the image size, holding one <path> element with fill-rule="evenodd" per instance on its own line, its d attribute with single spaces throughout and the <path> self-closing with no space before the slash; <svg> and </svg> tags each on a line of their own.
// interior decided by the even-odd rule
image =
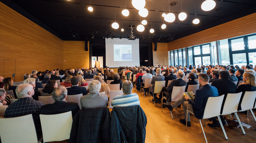
<svg viewBox="0 0 256 143">
<path fill-rule="evenodd" d="M 126 38 L 131 32 L 128 25 L 137 26 L 140 21 L 138 10 L 132 6 L 132 0 L 126 0 L 126 8 L 130 11 L 128 17 L 121 14 L 125 7 L 125 0 L 91 0 L 93 12 L 87 10 L 90 0 L 0 1 L 63 40 L 84 40 L 84 38 L 91 38 L 92 35 L 94 39 L 106 35 Z M 215 0 L 216 7 L 211 11 L 201 9 L 203 1 L 182 0 L 183 12 L 186 12 L 188 17 L 180 21 L 177 16 L 181 12 L 181 0 L 169 0 L 169 2 L 168 0 L 146 0 L 145 8 L 149 10 L 149 14 L 145 19 L 148 23 L 144 32 L 133 29 L 134 35 L 140 39 L 162 37 L 162 41 L 168 42 L 256 12 L 256 0 Z M 176 20 L 173 23 L 165 22 L 167 27 L 163 30 L 161 29 L 163 4 L 165 13 L 168 13 L 169 3 L 172 2 L 177 2 L 176 5 L 170 6 L 170 12 L 175 14 Z M 198 25 L 192 24 L 195 18 L 194 7 L 196 7 L 196 17 L 200 19 Z M 115 21 L 114 11 L 116 11 L 116 21 L 119 23 L 117 30 L 111 27 Z M 151 20 L 152 28 L 155 30 L 154 34 L 149 32 Z M 122 27 L 124 32 L 120 31 Z"/>
</svg>

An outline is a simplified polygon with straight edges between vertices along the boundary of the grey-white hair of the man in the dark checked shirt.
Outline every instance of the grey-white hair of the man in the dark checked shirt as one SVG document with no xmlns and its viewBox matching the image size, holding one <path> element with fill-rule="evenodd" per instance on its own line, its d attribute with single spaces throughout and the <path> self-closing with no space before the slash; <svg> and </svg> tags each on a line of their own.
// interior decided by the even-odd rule
<svg viewBox="0 0 256 143">
<path fill-rule="evenodd" d="M 34 90 L 33 86 L 28 83 L 19 84 L 16 87 L 16 94 L 18 98 L 29 97 L 28 92 Z"/>
</svg>

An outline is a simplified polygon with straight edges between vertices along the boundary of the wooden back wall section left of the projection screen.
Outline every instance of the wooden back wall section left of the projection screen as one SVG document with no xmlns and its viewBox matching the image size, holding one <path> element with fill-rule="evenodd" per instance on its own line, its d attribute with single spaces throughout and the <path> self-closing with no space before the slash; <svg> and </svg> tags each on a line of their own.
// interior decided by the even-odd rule
<svg viewBox="0 0 256 143">
<path fill-rule="evenodd" d="M 84 41 L 64 41 L 63 51 L 64 69 L 89 68 L 89 48 L 88 51 L 85 51 Z"/>
</svg>

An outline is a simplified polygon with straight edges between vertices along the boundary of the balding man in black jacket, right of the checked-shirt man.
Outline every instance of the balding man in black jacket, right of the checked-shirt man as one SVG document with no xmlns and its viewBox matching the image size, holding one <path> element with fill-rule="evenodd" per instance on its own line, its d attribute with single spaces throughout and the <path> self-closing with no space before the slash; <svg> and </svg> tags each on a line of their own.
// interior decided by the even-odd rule
<svg viewBox="0 0 256 143">
<path fill-rule="evenodd" d="M 64 86 L 54 89 L 52 95 L 55 102 L 42 106 L 40 114 L 60 114 L 72 111 L 74 117 L 76 112 L 79 111 L 80 108 L 77 103 L 66 101 L 68 90 Z"/>
</svg>

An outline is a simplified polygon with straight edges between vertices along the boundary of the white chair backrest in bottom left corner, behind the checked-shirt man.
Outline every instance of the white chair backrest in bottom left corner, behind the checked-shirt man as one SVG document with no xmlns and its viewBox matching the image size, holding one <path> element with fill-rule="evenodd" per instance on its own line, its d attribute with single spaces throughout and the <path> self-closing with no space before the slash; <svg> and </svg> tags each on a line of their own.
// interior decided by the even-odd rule
<svg viewBox="0 0 256 143">
<path fill-rule="evenodd" d="M 0 118 L 0 127 L 2 143 L 38 143 L 32 114 Z"/>
</svg>

